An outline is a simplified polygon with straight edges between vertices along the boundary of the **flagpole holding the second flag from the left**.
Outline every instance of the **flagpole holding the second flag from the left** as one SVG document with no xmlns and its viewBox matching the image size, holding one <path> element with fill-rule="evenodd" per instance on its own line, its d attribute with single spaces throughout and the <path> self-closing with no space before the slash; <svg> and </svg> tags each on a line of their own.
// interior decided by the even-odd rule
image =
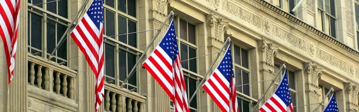
<svg viewBox="0 0 359 112">
<path fill-rule="evenodd" d="M 80 12 L 83 12 L 85 9 L 86 4 L 89 2 L 89 0 L 85 0 L 85 2 L 81 5 L 80 10 L 77 11 L 75 17 L 72 19 L 71 24 L 69 25 L 69 27 L 67 27 L 66 31 L 64 32 L 63 36 L 61 37 L 61 39 L 58 41 L 55 49 L 51 52 L 51 55 L 49 56 L 49 58 L 47 60 L 51 60 L 51 58 L 53 57 L 53 55 L 55 54 L 55 51 L 61 46 L 61 44 L 63 43 L 64 39 L 66 38 L 67 32 L 70 30 L 70 28 L 72 27 L 72 25 L 75 23 L 75 21 L 77 21 L 79 19 L 78 15 L 80 14 Z"/>
</svg>

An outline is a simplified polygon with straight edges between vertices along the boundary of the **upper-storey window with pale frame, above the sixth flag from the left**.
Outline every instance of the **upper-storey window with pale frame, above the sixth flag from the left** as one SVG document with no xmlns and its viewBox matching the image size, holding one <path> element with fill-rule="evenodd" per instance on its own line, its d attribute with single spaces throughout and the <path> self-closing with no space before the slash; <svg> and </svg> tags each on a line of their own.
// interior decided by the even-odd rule
<svg viewBox="0 0 359 112">
<path fill-rule="evenodd" d="M 317 12 L 318 29 L 336 38 L 335 30 L 335 1 L 334 0 L 318 0 Z"/>
</svg>

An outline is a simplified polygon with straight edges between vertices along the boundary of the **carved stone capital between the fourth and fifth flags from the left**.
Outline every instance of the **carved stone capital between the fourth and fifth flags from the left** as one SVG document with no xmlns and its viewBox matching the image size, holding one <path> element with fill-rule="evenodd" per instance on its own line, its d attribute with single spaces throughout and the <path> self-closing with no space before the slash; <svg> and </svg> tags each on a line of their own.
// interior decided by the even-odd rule
<svg viewBox="0 0 359 112">
<path fill-rule="evenodd" d="M 265 52 L 265 62 L 274 65 L 274 57 L 278 54 L 278 47 L 265 39 L 260 40 L 259 48 Z"/>
</svg>

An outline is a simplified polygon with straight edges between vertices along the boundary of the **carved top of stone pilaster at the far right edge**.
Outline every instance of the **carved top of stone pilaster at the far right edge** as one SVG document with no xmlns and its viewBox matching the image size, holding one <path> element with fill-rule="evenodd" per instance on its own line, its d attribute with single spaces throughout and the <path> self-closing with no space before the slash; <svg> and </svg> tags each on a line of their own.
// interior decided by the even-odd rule
<svg viewBox="0 0 359 112">
<path fill-rule="evenodd" d="M 345 100 L 346 100 L 346 111 L 354 112 L 357 111 L 358 106 L 358 92 L 359 85 L 354 83 L 345 83 Z"/>
</svg>

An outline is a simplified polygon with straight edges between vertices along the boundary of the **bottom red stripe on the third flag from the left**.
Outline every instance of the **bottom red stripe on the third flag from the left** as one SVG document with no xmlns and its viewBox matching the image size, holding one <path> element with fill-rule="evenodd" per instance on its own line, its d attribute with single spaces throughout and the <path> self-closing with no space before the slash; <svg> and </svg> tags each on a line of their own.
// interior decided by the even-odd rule
<svg viewBox="0 0 359 112">
<path fill-rule="evenodd" d="M 165 92 L 168 94 L 168 96 L 170 97 L 170 99 L 172 101 L 174 101 L 174 95 L 170 92 L 169 88 L 167 88 L 167 86 L 162 82 L 161 79 L 158 78 L 157 74 L 155 74 L 153 72 L 153 70 L 150 68 L 150 66 L 148 66 L 148 64 L 145 62 L 143 64 L 143 66 L 145 67 L 145 69 L 152 75 L 152 77 L 159 83 L 159 85 L 162 86 L 162 88 L 165 90 Z M 173 87 L 173 83 L 170 83 Z"/>
</svg>

